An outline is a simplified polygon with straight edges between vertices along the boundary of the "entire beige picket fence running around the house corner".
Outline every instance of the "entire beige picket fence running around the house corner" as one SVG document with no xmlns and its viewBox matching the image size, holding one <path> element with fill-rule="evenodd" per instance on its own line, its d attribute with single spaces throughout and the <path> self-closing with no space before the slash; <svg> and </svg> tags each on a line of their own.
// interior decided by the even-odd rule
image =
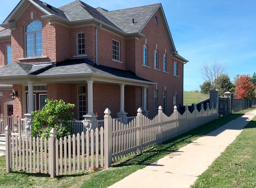
<svg viewBox="0 0 256 188">
<path fill-rule="evenodd" d="M 110 110 L 104 113 L 104 129 L 91 130 L 81 134 L 56 138 L 56 130 L 52 129 L 49 139 L 31 138 L 30 136 L 13 136 L 10 127 L 5 128 L 6 139 L 6 170 L 23 169 L 33 173 L 58 175 L 81 172 L 85 169 L 94 170 L 98 167 L 110 167 L 111 162 L 133 153 L 162 143 L 175 136 L 203 125 L 218 118 L 218 105 L 206 110 L 201 106 L 198 111 L 194 106 L 190 113 L 187 106 L 181 115 L 174 107 L 171 116 L 163 113 L 162 107 L 152 120 L 137 110 L 128 124 L 111 118 Z"/>
</svg>

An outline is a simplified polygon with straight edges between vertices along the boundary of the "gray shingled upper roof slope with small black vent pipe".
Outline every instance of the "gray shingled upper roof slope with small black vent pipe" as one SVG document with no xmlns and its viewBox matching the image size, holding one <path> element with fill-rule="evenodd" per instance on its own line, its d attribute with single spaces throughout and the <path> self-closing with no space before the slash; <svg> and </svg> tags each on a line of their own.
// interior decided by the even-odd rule
<svg viewBox="0 0 256 188">
<path fill-rule="evenodd" d="M 120 9 L 114 11 L 104 11 L 102 8 L 97 8 L 110 21 L 115 23 L 126 33 L 137 33 L 145 25 L 150 16 L 154 13 L 160 3 L 146 5 L 142 7 L 133 7 L 128 9 Z M 137 23 L 133 23 L 134 22 Z"/>
</svg>

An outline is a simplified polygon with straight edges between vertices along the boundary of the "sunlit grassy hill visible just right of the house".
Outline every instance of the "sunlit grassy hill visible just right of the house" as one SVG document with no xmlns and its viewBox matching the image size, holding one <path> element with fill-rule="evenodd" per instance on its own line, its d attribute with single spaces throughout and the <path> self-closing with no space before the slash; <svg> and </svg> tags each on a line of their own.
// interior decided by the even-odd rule
<svg viewBox="0 0 256 188">
<path fill-rule="evenodd" d="M 192 103 L 199 103 L 201 101 L 205 101 L 206 99 L 209 99 L 209 95 L 202 94 L 202 93 L 196 93 L 196 92 L 186 92 L 183 93 L 184 105 L 191 105 Z"/>
</svg>

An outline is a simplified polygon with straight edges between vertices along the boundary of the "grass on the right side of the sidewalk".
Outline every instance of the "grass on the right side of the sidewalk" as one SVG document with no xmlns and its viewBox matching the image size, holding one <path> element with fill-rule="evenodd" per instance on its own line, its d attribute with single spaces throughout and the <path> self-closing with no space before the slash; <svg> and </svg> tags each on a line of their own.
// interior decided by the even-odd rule
<svg viewBox="0 0 256 188">
<path fill-rule="evenodd" d="M 256 188 L 256 117 L 192 188 Z"/>
</svg>

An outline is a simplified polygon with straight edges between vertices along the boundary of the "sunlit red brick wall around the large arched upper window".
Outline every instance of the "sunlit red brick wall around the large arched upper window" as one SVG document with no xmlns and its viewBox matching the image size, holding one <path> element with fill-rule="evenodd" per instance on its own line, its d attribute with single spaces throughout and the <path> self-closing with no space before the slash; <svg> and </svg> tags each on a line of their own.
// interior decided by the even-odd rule
<svg viewBox="0 0 256 188">
<path fill-rule="evenodd" d="M 31 20 L 31 12 L 33 12 L 33 20 L 39 20 L 43 24 L 43 56 L 48 56 L 46 59 L 32 59 L 22 60 L 19 58 L 26 57 L 25 52 L 25 27 L 33 21 Z M 16 22 L 16 29 L 12 30 L 12 60 L 14 62 L 50 62 L 56 61 L 56 40 L 55 40 L 55 28 L 49 24 L 49 21 L 41 19 L 41 16 L 45 16 L 39 9 L 30 5 L 25 12 L 20 16 Z"/>
</svg>

